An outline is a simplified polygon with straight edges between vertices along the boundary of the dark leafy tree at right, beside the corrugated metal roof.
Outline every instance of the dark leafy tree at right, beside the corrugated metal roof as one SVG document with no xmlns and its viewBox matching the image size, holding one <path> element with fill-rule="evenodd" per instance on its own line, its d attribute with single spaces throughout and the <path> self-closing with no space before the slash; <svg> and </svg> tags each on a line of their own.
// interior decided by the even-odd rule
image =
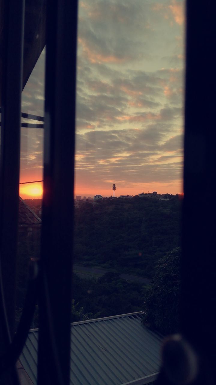
<svg viewBox="0 0 216 385">
<path fill-rule="evenodd" d="M 180 248 L 159 259 L 151 288 L 145 299 L 143 323 L 162 334 L 176 333 L 179 327 Z"/>
</svg>

